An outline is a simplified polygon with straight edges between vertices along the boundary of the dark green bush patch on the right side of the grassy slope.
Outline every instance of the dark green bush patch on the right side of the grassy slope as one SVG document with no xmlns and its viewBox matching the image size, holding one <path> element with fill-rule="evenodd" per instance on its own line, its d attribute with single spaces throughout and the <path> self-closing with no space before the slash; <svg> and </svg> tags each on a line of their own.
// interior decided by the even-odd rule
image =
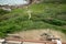
<svg viewBox="0 0 66 44">
<path fill-rule="evenodd" d="M 57 19 L 51 19 L 51 20 L 43 20 L 44 22 L 46 23 L 51 23 L 51 24 L 54 24 L 54 25 L 66 25 L 66 22 L 65 21 L 62 21 L 62 20 L 57 20 Z"/>
</svg>

